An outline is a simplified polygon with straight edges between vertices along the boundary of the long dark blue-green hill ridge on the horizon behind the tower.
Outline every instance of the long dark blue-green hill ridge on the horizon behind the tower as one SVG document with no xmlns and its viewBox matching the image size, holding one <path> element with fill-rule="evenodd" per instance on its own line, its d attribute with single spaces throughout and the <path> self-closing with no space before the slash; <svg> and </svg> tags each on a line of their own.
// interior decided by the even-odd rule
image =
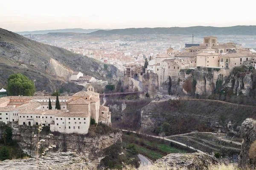
<svg viewBox="0 0 256 170">
<path fill-rule="evenodd" d="M 193 26 L 193 27 L 170 27 L 170 28 L 126 28 L 113 30 L 99 30 L 89 34 L 181 34 L 181 35 L 256 35 L 256 26 L 232 26 L 232 27 L 211 27 L 211 26 Z"/>
</svg>

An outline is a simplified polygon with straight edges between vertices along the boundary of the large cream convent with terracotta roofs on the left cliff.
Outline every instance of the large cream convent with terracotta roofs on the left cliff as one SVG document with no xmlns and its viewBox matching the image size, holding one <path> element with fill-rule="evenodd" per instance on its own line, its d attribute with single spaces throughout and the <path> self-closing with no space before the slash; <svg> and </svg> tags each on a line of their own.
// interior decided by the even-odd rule
<svg viewBox="0 0 256 170">
<path fill-rule="evenodd" d="M 49 99 L 52 110 L 49 110 Z M 92 86 L 73 96 L 58 96 L 61 109 L 55 110 L 56 96 L 6 96 L 0 98 L 0 121 L 18 125 L 49 126 L 61 133 L 88 133 L 91 119 L 111 126 L 111 112 L 100 105 Z"/>
</svg>

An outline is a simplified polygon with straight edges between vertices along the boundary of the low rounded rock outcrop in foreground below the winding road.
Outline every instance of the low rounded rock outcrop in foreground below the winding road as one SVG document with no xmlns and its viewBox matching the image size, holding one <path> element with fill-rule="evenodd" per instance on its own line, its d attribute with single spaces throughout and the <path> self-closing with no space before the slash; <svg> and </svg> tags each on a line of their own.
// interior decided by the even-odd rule
<svg viewBox="0 0 256 170">
<path fill-rule="evenodd" d="M 172 167 L 173 169 L 187 168 L 188 170 L 207 170 L 212 164 L 218 163 L 218 159 L 207 154 L 171 153 L 158 159 L 155 165 L 158 167 Z"/>
</svg>

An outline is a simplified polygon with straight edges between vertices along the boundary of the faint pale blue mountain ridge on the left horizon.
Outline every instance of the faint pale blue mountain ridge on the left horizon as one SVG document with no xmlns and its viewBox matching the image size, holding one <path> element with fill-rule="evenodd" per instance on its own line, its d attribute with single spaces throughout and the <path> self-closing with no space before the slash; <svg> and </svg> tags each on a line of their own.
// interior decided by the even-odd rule
<svg viewBox="0 0 256 170">
<path fill-rule="evenodd" d="M 67 29 L 52 29 L 52 30 L 41 30 L 41 31 L 21 31 L 15 32 L 20 35 L 26 34 L 48 34 L 52 32 L 78 32 L 78 33 L 90 33 L 98 30 L 111 30 L 111 29 L 82 29 L 82 28 L 67 28 Z"/>
</svg>

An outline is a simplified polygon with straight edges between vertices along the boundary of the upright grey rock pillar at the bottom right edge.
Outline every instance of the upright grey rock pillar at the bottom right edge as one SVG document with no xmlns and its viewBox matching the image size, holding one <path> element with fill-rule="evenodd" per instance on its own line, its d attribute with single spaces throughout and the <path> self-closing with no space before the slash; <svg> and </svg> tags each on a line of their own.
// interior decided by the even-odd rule
<svg viewBox="0 0 256 170">
<path fill-rule="evenodd" d="M 246 119 L 241 126 L 241 136 L 243 138 L 239 167 L 244 168 L 248 165 L 256 165 L 255 160 L 249 157 L 251 144 L 256 141 L 256 120 Z M 255 150 L 253 151 L 255 155 Z"/>
</svg>

